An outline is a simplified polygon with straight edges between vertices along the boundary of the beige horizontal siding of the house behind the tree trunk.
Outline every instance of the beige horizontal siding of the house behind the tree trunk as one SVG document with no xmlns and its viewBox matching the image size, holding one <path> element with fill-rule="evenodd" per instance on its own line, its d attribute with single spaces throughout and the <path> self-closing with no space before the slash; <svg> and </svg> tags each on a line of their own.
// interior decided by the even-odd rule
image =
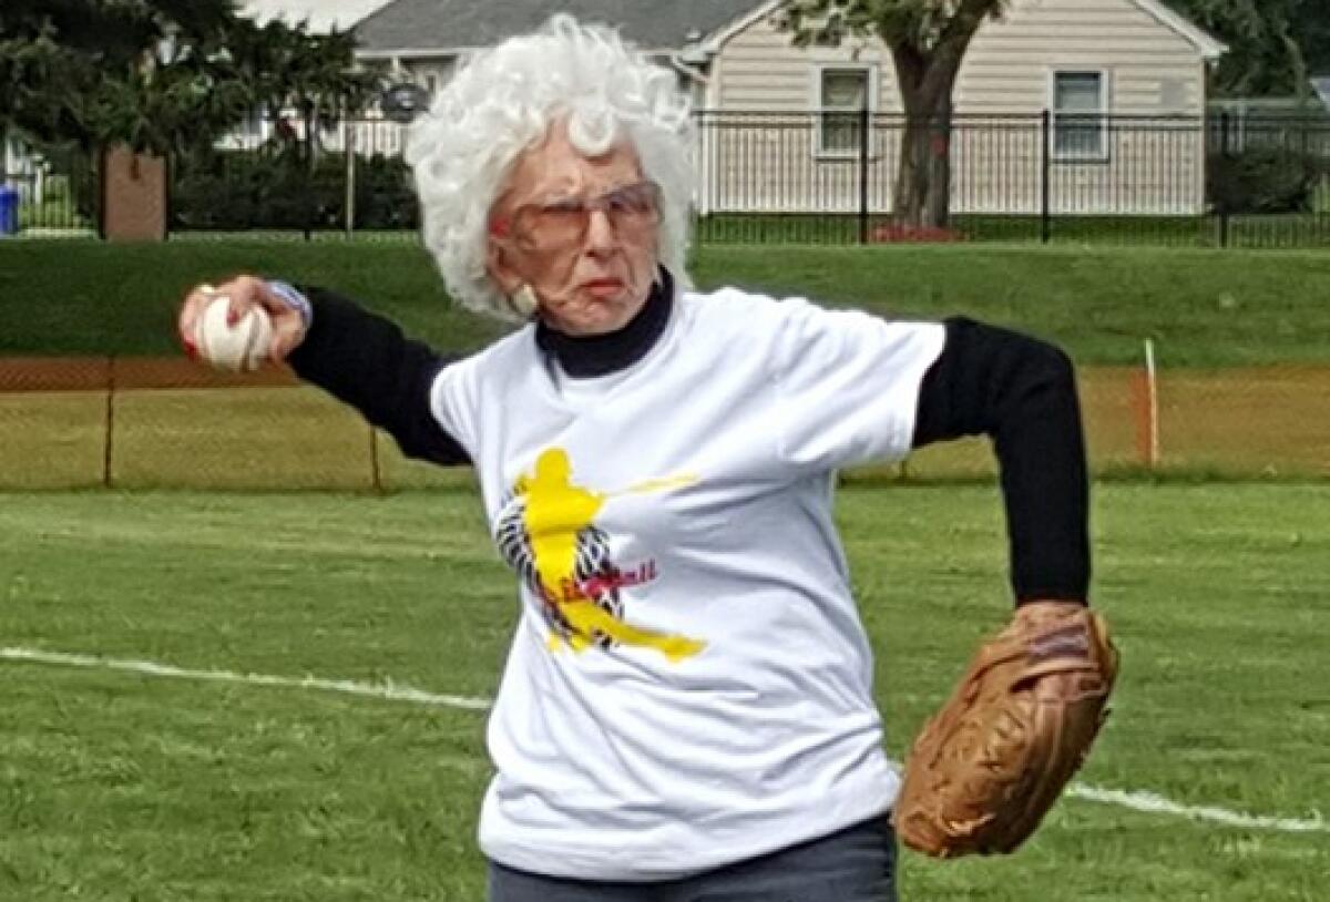
<svg viewBox="0 0 1330 902">
<path fill-rule="evenodd" d="M 700 146 L 704 212 L 853 212 L 861 205 L 859 164 L 818 154 L 818 72 L 866 65 L 875 73 L 874 109 L 902 109 L 890 53 L 875 41 L 799 49 L 770 20 L 735 35 L 713 68 L 713 108 L 783 117 L 726 120 L 704 128 Z M 1043 136 L 1037 120 L 979 122 L 972 117 L 1035 117 L 1051 104 L 1059 69 L 1103 72 L 1115 116 L 1190 116 L 1205 108 L 1205 65 L 1194 45 L 1132 0 L 1015 0 L 1004 19 L 975 36 L 956 88 L 960 124 L 951 146 L 958 213 L 1039 213 L 1044 205 Z M 802 112 L 803 116 L 793 113 Z M 1055 161 L 1053 213 L 1197 213 L 1204 208 L 1204 141 L 1198 130 L 1146 132 L 1123 122 L 1095 162 Z M 880 122 L 868 165 L 868 205 L 891 208 L 899 129 Z"/>
</svg>

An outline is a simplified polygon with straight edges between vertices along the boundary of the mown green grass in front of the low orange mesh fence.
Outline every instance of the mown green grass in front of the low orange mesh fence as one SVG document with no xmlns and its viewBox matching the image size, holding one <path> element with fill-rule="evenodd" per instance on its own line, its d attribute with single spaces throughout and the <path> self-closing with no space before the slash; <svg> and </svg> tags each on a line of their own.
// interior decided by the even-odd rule
<svg viewBox="0 0 1330 902">
<path fill-rule="evenodd" d="M 899 757 L 1005 616 L 996 492 L 851 487 L 839 519 Z M 1124 671 L 1081 797 L 1011 858 L 907 855 L 902 898 L 1326 898 L 1330 487 L 1103 486 L 1095 520 L 1096 600 Z M 489 696 L 515 615 L 468 488 L 5 495 L 0 533 L 8 649 Z M 0 898 L 483 897 L 480 712 L 0 668 Z M 1310 830 L 1138 812 L 1093 789 Z"/>
</svg>

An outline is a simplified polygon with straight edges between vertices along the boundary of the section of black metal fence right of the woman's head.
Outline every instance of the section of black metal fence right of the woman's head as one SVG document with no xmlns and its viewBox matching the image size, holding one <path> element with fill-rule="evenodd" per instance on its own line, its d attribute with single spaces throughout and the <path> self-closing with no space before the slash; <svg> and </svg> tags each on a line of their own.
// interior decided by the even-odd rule
<svg viewBox="0 0 1330 902">
<path fill-rule="evenodd" d="M 1076 241 L 1330 245 L 1330 121 L 956 117 L 927 128 L 950 216 L 896 214 L 910 124 L 701 113 L 702 242 Z"/>
</svg>

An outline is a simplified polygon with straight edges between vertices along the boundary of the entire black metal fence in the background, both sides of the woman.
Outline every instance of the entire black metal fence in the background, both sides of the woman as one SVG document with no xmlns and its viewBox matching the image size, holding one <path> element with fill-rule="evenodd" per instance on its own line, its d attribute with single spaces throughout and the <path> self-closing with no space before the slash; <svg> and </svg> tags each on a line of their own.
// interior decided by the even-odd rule
<svg viewBox="0 0 1330 902">
<path fill-rule="evenodd" d="M 900 116 L 709 110 L 697 125 L 701 243 L 1330 246 L 1330 117 L 958 116 L 926 136 L 950 177 L 950 214 L 930 229 L 895 209 Z M 255 117 L 173 160 L 169 230 L 410 238 L 406 141 L 386 120 Z M 96 230 L 92 161 L 39 154 L 5 184 L 11 233 Z"/>
</svg>

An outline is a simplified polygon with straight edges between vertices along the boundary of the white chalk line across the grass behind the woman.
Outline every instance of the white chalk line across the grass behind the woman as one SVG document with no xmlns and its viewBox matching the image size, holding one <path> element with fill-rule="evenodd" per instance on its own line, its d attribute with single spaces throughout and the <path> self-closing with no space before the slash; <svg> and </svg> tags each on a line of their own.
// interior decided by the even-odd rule
<svg viewBox="0 0 1330 902">
<path fill-rule="evenodd" d="M 488 698 L 443 696 L 434 692 L 426 692 L 424 689 L 415 689 L 412 686 L 396 685 L 392 682 L 374 684 L 358 682 L 355 680 L 323 680 L 313 676 L 295 678 L 270 676 L 265 673 L 234 673 L 231 671 L 190 671 L 186 668 L 173 667 L 170 664 L 157 664 L 156 661 L 97 657 L 93 655 L 70 655 L 68 652 L 43 652 L 32 648 L 0 648 L 0 660 L 25 661 L 31 664 L 52 664 L 60 667 L 80 667 L 101 671 L 124 671 L 145 676 L 173 677 L 177 680 L 238 682 L 246 685 L 281 686 L 287 689 L 318 689 L 321 692 L 340 692 L 343 694 L 364 696 L 368 698 L 407 701 L 418 705 L 434 705 L 439 708 L 462 708 L 466 710 L 488 710 L 491 705 Z M 1330 825 L 1321 818 L 1319 813 L 1311 818 L 1267 817 L 1262 814 L 1234 812 L 1214 805 L 1182 805 L 1156 793 L 1104 789 L 1085 784 L 1072 784 L 1067 788 L 1067 794 L 1088 802 L 1116 805 L 1119 808 L 1145 814 L 1184 817 L 1190 821 L 1222 824 L 1225 826 L 1244 827 L 1249 830 L 1275 830 L 1279 833 L 1330 833 Z"/>
</svg>

